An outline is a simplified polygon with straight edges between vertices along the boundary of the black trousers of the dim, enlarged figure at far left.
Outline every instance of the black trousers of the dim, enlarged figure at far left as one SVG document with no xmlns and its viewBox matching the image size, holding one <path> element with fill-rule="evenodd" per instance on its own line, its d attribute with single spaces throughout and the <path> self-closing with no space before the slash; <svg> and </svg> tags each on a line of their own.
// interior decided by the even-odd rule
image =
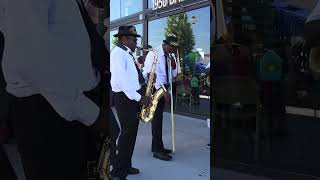
<svg viewBox="0 0 320 180">
<path fill-rule="evenodd" d="M 27 180 L 87 180 L 90 129 L 60 117 L 41 95 L 17 98 L 14 131 Z"/>
</svg>

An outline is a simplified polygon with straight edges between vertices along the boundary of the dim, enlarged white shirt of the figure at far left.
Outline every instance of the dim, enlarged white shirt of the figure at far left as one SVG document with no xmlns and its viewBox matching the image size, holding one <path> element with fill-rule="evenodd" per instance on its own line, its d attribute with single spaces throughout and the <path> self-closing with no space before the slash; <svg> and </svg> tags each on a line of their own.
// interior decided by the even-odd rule
<svg viewBox="0 0 320 180">
<path fill-rule="evenodd" d="M 1 1 L 7 91 L 16 97 L 41 94 L 64 119 L 93 124 L 99 107 L 83 91 L 98 81 L 76 1 L 21 0 L 19 6 L 12 0 Z"/>
</svg>

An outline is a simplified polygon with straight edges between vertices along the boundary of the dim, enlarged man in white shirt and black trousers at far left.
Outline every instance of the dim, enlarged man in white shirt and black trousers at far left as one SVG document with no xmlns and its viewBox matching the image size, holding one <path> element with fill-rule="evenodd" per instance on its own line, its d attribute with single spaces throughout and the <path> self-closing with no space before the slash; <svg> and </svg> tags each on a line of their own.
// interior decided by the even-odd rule
<svg viewBox="0 0 320 180">
<path fill-rule="evenodd" d="M 107 126 L 99 106 L 84 95 L 99 79 L 77 1 L 0 4 L 2 68 L 6 91 L 17 97 L 13 124 L 26 179 L 87 180 L 90 127 L 106 132 Z"/>
</svg>

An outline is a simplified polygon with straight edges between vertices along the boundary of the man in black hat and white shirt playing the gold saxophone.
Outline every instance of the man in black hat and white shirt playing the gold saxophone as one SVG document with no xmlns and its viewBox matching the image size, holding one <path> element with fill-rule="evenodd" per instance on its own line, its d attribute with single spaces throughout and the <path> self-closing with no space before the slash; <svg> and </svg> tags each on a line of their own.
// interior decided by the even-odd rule
<svg viewBox="0 0 320 180">
<path fill-rule="evenodd" d="M 145 82 L 132 55 L 137 47 L 137 37 L 141 36 L 134 26 L 120 26 L 114 37 L 118 38 L 118 44 L 110 54 L 111 87 L 121 132 L 112 175 L 124 180 L 128 174 L 139 173 L 131 163 L 139 125 L 137 114 L 139 103 L 148 106 L 151 99 L 141 92 Z"/>
</svg>

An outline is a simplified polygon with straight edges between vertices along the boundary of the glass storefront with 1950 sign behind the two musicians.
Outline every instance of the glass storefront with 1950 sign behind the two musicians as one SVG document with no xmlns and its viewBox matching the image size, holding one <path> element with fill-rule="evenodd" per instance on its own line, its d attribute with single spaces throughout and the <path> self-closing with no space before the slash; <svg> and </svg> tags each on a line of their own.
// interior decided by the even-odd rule
<svg viewBox="0 0 320 180">
<path fill-rule="evenodd" d="M 142 38 L 138 46 L 159 46 L 166 34 L 179 39 L 180 76 L 176 81 L 176 112 L 208 118 L 210 114 L 210 91 L 204 76 L 210 62 L 210 22 L 212 20 L 209 0 L 110 0 L 110 39 L 121 25 L 134 25 Z M 136 51 L 135 56 L 143 55 Z M 200 104 L 195 101 L 190 80 L 197 77 Z"/>
</svg>

